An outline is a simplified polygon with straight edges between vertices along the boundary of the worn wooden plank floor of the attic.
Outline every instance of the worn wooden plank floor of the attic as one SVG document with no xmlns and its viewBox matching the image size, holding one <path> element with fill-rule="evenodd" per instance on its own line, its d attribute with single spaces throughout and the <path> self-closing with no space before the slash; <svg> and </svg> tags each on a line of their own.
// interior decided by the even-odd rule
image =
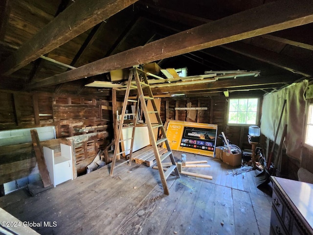
<svg viewBox="0 0 313 235">
<path fill-rule="evenodd" d="M 213 180 L 170 176 L 167 196 L 155 169 L 122 164 L 110 177 L 105 166 L 33 197 L 24 190 L 0 197 L 0 207 L 21 221 L 57 223 L 34 227 L 40 234 L 269 234 L 271 198 L 256 188 L 258 172 L 227 175 L 232 167 L 219 160 L 186 155 L 211 167 L 184 170 Z"/>
</svg>

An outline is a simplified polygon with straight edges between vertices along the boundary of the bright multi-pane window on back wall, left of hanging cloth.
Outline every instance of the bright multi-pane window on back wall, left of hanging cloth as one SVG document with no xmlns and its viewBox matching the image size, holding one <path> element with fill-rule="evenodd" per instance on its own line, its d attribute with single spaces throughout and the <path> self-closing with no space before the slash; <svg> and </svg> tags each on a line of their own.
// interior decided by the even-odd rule
<svg viewBox="0 0 313 235">
<path fill-rule="evenodd" d="M 231 98 L 228 100 L 228 124 L 256 125 L 258 98 Z"/>
</svg>

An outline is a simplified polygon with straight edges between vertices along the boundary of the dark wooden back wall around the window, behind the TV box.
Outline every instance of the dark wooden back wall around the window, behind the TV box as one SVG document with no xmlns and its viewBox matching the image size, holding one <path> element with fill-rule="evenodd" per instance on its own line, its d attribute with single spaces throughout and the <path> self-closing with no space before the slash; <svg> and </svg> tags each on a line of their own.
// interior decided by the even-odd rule
<svg viewBox="0 0 313 235">
<path fill-rule="evenodd" d="M 262 110 L 262 99 L 260 103 L 260 117 Z M 309 100 L 310 102 L 313 100 Z M 199 99 L 173 99 L 173 98 L 163 98 L 161 102 L 160 116 L 162 121 L 166 120 L 182 120 L 182 121 L 195 121 L 187 118 L 186 110 L 175 110 L 175 107 L 183 108 L 186 107 L 187 103 L 191 102 L 191 107 L 207 107 L 207 110 L 202 110 L 197 113 L 197 122 L 210 123 L 218 125 L 218 135 L 224 131 L 227 139 L 231 143 L 238 145 L 242 149 L 251 149 L 251 145 L 248 142 L 247 135 L 249 128 L 248 126 L 230 126 L 227 125 L 227 98 L 224 96 L 212 96 Z M 259 120 L 260 123 L 260 120 Z M 260 143 L 258 146 L 262 147 L 266 153 L 267 138 L 261 135 Z M 221 146 L 223 143 L 218 138 L 217 146 Z M 268 154 L 272 148 L 272 141 L 269 141 Z M 278 143 L 279 144 L 279 143 Z M 274 148 L 274 159 L 278 157 L 278 144 Z M 274 161 L 274 159 L 272 161 Z M 313 151 L 303 147 L 301 153 L 301 161 L 295 160 L 288 155 L 283 149 L 281 158 L 281 169 L 280 176 L 284 178 L 289 178 L 297 180 L 297 171 L 300 167 L 304 167 L 309 171 L 313 172 Z"/>
</svg>

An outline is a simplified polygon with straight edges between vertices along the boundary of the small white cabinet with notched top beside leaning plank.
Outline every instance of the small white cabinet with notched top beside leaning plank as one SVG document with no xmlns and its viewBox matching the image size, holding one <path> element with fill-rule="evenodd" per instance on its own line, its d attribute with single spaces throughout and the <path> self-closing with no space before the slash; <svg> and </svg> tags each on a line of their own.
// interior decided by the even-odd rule
<svg viewBox="0 0 313 235">
<path fill-rule="evenodd" d="M 73 179 L 71 146 L 61 143 L 61 155 L 44 146 L 44 156 L 51 183 L 54 187 Z"/>
</svg>

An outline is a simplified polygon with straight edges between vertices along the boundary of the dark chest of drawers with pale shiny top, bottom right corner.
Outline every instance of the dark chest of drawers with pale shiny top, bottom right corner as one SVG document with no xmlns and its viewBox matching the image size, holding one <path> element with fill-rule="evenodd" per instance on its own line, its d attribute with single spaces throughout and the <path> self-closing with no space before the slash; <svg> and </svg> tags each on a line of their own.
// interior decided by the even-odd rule
<svg viewBox="0 0 313 235">
<path fill-rule="evenodd" d="M 313 184 L 271 179 L 270 235 L 313 235 Z"/>
</svg>

